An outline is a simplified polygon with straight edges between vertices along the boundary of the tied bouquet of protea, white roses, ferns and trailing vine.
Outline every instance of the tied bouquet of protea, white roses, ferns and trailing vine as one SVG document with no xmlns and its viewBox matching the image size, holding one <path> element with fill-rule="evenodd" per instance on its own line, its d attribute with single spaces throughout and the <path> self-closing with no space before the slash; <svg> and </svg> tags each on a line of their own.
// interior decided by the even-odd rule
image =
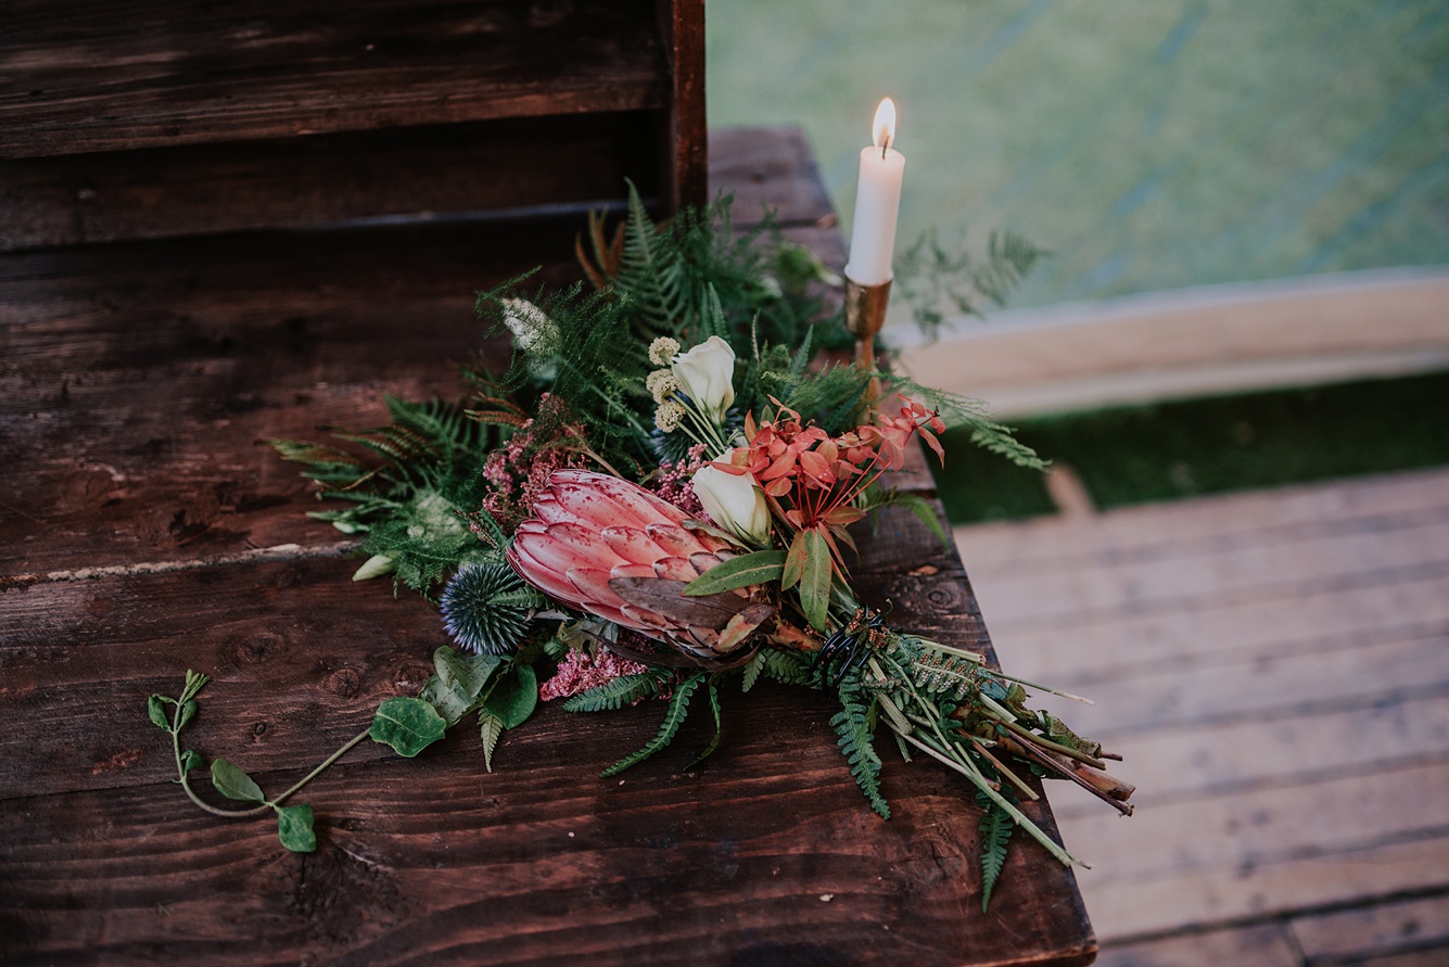
<svg viewBox="0 0 1449 967">
<path fill-rule="evenodd" d="M 726 690 L 765 677 L 838 697 L 830 725 L 845 765 L 882 818 L 881 731 L 903 758 L 971 783 L 985 903 L 1016 828 L 1075 863 L 1019 808 L 1037 797 L 1029 776 L 1071 780 L 1123 813 L 1132 787 L 1104 771 L 1116 757 L 1027 706 L 1027 689 L 1077 696 L 862 602 L 851 528 L 895 505 L 945 541 L 932 506 L 893 491 L 888 474 L 911 447 L 945 462 L 951 423 L 1042 464 L 980 404 L 846 362 L 849 335 L 811 294 L 839 280 L 768 232 L 736 236 L 727 200 L 656 225 L 630 193 L 613 233 L 591 217 L 580 238 L 591 287 L 525 297 L 525 277 L 478 294 L 478 315 L 490 335 L 511 335 L 513 355 L 506 368 L 481 357 L 465 367 L 468 404 L 388 399 L 390 426 L 338 433 L 351 449 L 272 441 L 333 505 L 313 516 L 362 535 L 355 580 L 391 574 L 394 589 L 422 593 L 455 642 L 438 649 L 417 697 L 384 702 L 317 771 L 365 738 L 416 755 L 469 716 L 491 770 L 503 732 L 540 700 L 571 712 L 662 705 L 658 734 L 603 770 L 611 776 L 665 748 L 703 697 L 716 722 L 703 758 L 719 744 Z M 310 808 L 283 803 L 316 771 L 267 797 L 213 761 L 213 786 L 252 803 L 242 810 L 193 790 L 204 760 L 180 734 L 204 684 L 188 673 L 180 696 L 149 699 L 187 794 L 219 815 L 272 810 L 284 845 L 314 848 Z"/>
</svg>

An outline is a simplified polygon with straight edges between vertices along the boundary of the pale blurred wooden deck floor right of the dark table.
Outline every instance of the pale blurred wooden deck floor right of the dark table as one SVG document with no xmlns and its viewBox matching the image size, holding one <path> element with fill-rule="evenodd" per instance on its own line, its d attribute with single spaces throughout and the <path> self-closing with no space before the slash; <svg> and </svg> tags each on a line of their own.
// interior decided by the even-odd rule
<svg viewBox="0 0 1449 967">
<path fill-rule="evenodd" d="M 1449 963 L 1449 470 L 956 542 L 1006 668 L 1097 699 L 1051 707 L 1139 787 L 1052 797 L 1098 963 Z"/>
</svg>

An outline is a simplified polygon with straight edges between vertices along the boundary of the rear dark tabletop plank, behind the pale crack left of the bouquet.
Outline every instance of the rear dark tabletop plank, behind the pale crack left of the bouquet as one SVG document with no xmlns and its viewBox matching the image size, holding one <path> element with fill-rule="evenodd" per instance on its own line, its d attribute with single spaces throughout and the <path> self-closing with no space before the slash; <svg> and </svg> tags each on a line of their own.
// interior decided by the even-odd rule
<svg viewBox="0 0 1449 967">
<path fill-rule="evenodd" d="M 445 361 L 483 344 L 472 289 L 558 258 L 572 229 L 380 228 L 3 260 L 0 455 L 26 467 L 0 481 L 3 570 L 335 539 L 297 513 L 296 470 L 254 442 L 385 422 L 384 391 L 461 396 Z M 165 387 L 164 403 L 148 387 Z"/>
</svg>

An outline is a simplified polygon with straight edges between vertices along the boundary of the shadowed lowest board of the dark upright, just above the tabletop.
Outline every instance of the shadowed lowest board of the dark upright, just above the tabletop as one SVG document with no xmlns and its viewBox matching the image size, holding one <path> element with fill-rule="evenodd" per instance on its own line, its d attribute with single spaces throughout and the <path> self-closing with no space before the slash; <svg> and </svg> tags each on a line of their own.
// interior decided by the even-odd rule
<svg viewBox="0 0 1449 967">
<path fill-rule="evenodd" d="M 643 112 L 0 161 L 0 251 L 432 219 L 659 191 Z M 581 216 L 580 216 L 581 217 Z"/>
</svg>

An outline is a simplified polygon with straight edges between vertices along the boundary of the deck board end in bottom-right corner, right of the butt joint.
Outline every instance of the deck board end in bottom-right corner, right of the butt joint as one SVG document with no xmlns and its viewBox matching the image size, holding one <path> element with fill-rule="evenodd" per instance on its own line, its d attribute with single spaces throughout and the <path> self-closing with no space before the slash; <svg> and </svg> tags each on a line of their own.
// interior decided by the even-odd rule
<svg viewBox="0 0 1449 967">
<path fill-rule="evenodd" d="M 1449 896 L 1297 916 L 1288 922 L 1308 963 L 1359 960 L 1408 948 L 1449 947 Z"/>
</svg>

